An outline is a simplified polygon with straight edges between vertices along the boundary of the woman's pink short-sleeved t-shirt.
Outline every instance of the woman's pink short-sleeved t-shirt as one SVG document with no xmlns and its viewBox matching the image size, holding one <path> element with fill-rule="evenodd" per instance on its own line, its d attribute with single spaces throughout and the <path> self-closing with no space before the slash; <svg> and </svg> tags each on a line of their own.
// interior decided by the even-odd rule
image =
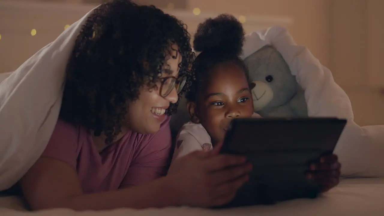
<svg viewBox="0 0 384 216">
<path fill-rule="evenodd" d="M 167 172 L 172 146 L 169 120 L 156 134 L 128 132 L 100 153 L 85 128 L 59 120 L 42 156 L 76 169 L 84 193 L 142 184 Z"/>
</svg>

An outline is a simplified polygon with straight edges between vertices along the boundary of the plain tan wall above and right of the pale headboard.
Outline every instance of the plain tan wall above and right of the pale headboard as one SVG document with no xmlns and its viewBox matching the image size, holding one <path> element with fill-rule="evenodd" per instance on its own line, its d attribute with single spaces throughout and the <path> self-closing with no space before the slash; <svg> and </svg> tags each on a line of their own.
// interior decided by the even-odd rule
<svg viewBox="0 0 384 216">
<path fill-rule="evenodd" d="M 188 7 L 292 18 L 293 38 L 332 71 L 356 122 L 384 124 L 383 0 L 189 0 Z"/>
</svg>

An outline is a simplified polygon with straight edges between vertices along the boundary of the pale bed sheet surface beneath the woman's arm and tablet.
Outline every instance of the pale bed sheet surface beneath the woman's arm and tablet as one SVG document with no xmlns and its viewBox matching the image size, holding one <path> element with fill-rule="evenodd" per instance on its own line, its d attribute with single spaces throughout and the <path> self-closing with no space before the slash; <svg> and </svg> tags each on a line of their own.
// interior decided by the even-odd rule
<svg viewBox="0 0 384 216">
<path fill-rule="evenodd" d="M 331 191 L 316 199 L 296 199 L 271 206 L 251 206 L 233 209 L 163 208 L 163 209 L 115 209 L 110 211 L 75 212 L 69 209 L 53 209 L 28 212 L 23 200 L 0 197 L 1 216 L 382 216 L 384 215 L 384 178 L 344 179 Z"/>
</svg>

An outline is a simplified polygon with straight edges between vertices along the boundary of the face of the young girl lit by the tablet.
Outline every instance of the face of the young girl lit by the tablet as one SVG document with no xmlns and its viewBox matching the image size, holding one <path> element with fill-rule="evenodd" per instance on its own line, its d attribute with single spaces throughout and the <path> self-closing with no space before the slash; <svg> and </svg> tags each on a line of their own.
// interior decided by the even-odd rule
<svg viewBox="0 0 384 216">
<path fill-rule="evenodd" d="M 219 65 L 210 73 L 196 104 L 189 104 L 192 119 L 209 133 L 212 144 L 222 143 L 233 118 L 253 114 L 252 95 L 244 71 L 233 63 Z"/>
</svg>

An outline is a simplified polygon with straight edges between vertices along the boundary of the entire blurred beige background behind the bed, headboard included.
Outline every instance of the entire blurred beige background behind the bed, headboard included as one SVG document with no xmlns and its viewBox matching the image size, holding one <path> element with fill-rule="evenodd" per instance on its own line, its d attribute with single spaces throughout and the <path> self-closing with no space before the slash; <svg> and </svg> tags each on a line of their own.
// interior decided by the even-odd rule
<svg viewBox="0 0 384 216">
<path fill-rule="evenodd" d="M 66 24 L 75 22 L 94 7 L 81 5 L 85 0 L 57 0 L 79 5 L 64 5 L 60 6 L 60 10 L 45 10 L 45 16 L 39 18 L 40 12 L 28 4 L 23 4 L 23 13 L 16 16 L 15 11 L 1 4 L 5 1 L 0 0 L 0 73 L 15 70 L 38 49 L 54 40 Z M 167 0 L 139 1 L 169 6 Z M 288 28 L 298 44 L 308 47 L 323 65 L 331 69 L 335 81 L 350 97 L 356 122 L 361 125 L 384 124 L 383 0 L 169 2 L 173 3 L 173 8 L 183 11 L 167 12 L 178 13 L 181 16 L 179 18 L 188 24 L 191 33 L 197 24 L 204 20 L 204 16 L 214 16 L 218 13 L 244 15 L 247 18 L 244 24 L 247 32 L 264 28 L 265 25 L 283 25 Z M 53 6 L 46 3 L 46 7 Z M 192 14 L 192 9 L 197 7 L 201 10 L 199 16 Z M 261 22 L 263 17 L 269 18 Z M 37 30 L 34 37 L 30 35 L 32 28 Z"/>
</svg>

